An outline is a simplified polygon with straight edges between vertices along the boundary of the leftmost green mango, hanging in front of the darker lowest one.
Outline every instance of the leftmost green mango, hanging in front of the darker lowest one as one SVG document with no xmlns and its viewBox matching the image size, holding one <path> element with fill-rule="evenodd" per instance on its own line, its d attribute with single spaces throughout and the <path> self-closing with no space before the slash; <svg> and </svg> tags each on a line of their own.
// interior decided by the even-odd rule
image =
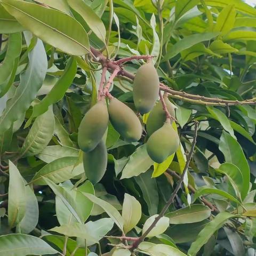
<svg viewBox="0 0 256 256">
<path fill-rule="evenodd" d="M 105 100 L 98 101 L 87 113 L 78 127 L 78 146 L 84 152 L 93 150 L 108 127 L 108 108 Z"/>
</svg>

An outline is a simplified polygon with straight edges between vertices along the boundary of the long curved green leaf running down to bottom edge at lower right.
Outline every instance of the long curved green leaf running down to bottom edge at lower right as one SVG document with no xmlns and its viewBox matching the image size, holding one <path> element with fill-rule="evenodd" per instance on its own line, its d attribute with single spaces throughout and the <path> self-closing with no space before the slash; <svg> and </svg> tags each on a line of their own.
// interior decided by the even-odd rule
<svg viewBox="0 0 256 256">
<path fill-rule="evenodd" d="M 239 215 L 234 215 L 228 212 L 219 213 L 212 221 L 206 224 L 206 226 L 198 234 L 196 241 L 193 242 L 188 250 L 189 256 L 195 256 L 200 248 L 207 243 L 210 237 L 220 229 L 225 222 L 230 218 L 238 217 Z"/>
</svg>

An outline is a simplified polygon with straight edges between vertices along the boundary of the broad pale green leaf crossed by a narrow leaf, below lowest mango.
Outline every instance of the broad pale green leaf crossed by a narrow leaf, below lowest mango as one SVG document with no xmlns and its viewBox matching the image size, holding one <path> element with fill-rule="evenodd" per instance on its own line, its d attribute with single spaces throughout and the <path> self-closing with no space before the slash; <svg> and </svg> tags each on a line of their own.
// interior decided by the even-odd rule
<svg viewBox="0 0 256 256">
<path fill-rule="evenodd" d="M 67 182 L 63 183 L 61 186 L 73 197 L 76 203 L 75 209 L 79 209 L 79 212 L 81 212 L 82 221 L 85 222 L 92 212 L 93 203 L 81 192 L 94 195 L 92 183 L 87 180 L 83 183 L 83 185 L 76 189 L 73 188 L 74 186 L 71 182 L 68 184 L 68 186 Z M 59 196 L 56 196 L 55 198 L 55 209 L 60 225 L 77 222 Z"/>
</svg>

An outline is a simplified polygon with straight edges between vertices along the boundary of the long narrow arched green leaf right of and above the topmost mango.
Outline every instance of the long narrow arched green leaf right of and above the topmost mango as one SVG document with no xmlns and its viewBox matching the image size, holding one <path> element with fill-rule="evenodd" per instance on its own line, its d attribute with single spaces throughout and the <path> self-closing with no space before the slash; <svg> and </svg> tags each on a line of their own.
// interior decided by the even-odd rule
<svg viewBox="0 0 256 256">
<path fill-rule="evenodd" d="M 171 49 L 166 53 L 166 55 L 162 59 L 162 61 L 170 60 L 171 58 L 175 57 L 181 51 L 186 50 L 189 47 L 191 47 L 195 44 L 198 44 L 200 42 L 209 41 L 218 35 L 219 35 L 218 32 L 212 32 L 212 33 L 201 33 L 201 34 L 186 36 L 186 37 L 180 39 L 180 41 L 178 41 L 176 44 L 171 46 Z"/>
</svg>

